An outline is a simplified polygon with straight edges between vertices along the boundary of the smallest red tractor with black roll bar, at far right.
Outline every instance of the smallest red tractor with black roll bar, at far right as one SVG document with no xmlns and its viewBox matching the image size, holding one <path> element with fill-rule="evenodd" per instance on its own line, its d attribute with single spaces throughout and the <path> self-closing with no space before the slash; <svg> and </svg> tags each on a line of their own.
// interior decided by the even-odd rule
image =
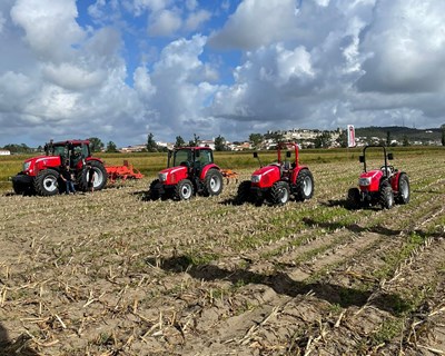
<svg viewBox="0 0 445 356">
<path fill-rule="evenodd" d="M 366 150 L 372 147 L 382 148 L 384 165 L 379 169 L 367 170 Z M 409 201 L 408 176 L 388 165 L 388 160 L 393 159 L 393 154 L 386 154 L 386 148 L 382 145 L 370 145 L 363 149 L 359 161 L 364 165 L 364 172 L 358 178 L 358 188 L 348 190 L 346 202 L 349 208 L 380 205 L 384 209 L 390 209 L 395 202 Z"/>
</svg>

